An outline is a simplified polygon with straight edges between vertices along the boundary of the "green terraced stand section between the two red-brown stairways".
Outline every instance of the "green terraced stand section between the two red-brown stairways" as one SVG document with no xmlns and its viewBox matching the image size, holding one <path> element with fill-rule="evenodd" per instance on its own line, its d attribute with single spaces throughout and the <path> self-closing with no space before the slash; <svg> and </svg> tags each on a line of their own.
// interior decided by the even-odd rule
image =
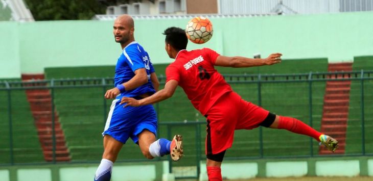
<svg viewBox="0 0 373 181">
<path fill-rule="evenodd" d="M 155 65 L 158 77 L 164 76 L 167 65 Z M 276 73 L 308 73 L 325 72 L 328 68 L 327 59 L 308 59 L 308 60 L 284 60 L 282 64 L 272 67 L 255 67 L 228 69 L 219 68 L 220 72 L 236 74 L 276 74 Z M 79 77 L 112 77 L 113 66 L 103 67 L 68 67 L 68 68 L 46 68 L 46 79 L 60 78 L 79 78 Z M 163 79 L 164 81 L 164 79 Z M 313 83 L 313 126 L 316 130 L 320 129 L 320 120 L 322 115 L 322 101 L 325 83 Z M 235 91 L 243 98 L 259 104 L 258 84 L 257 83 L 232 83 Z M 102 138 L 104 122 L 111 100 L 104 103 L 103 94 L 111 87 L 106 88 L 63 88 L 55 90 L 55 104 L 59 113 L 61 125 L 65 133 L 66 142 L 73 161 L 79 160 L 99 160 L 102 154 Z M 162 88 L 162 87 L 161 87 Z M 306 123 L 309 123 L 309 97 L 308 83 L 265 83 L 262 85 L 261 105 L 276 114 L 296 117 Z M 286 99 L 284 99 L 284 97 Z M 104 113 L 103 106 L 106 104 Z M 205 118 L 200 115 L 190 104 L 184 95 L 182 89 L 178 88 L 175 95 L 159 104 L 155 105 L 158 111 L 160 123 L 165 122 L 183 122 L 185 120 L 201 121 L 201 154 L 204 156 L 204 137 L 205 137 Z M 167 134 L 167 127 L 160 125 L 159 136 L 170 137 L 178 133 L 184 135 L 184 165 L 196 163 L 195 143 L 196 131 L 195 125 L 184 126 L 173 125 Z M 317 154 L 318 145 L 313 142 L 311 150 L 309 139 L 300 137 L 282 130 L 263 129 L 263 150 L 260 148 L 260 129 L 252 131 L 237 131 L 234 146 L 227 152 L 229 157 L 261 157 L 263 152 L 265 157 L 270 156 L 291 156 L 291 155 L 309 155 Z M 144 159 L 137 146 L 128 141 L 121 151 L 119 159 Z M 245 150 L 245 151 L 242 151 Z M 311 153 L 312 152 L 312 153 Z M 190 159 L 189 159 L 190 158 Z M 179 163 L 175 163 L 179 164 Z"/>
</svg>

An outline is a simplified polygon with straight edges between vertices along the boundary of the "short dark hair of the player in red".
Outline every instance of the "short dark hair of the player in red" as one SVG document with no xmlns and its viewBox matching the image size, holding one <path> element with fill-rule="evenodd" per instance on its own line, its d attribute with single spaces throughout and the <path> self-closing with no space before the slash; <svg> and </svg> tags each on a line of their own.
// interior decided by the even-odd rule
<svg viewBox="0 0 373 181">
<path fill-rule="evenodd" d="M 176 50 L 186 49 L 188 44 L 188 38 L 186 37 L 185 31 L 181 28 L 170 27 L 163 33 L 166 35 L 166 43 L 169 43 Z"/>
</svg>

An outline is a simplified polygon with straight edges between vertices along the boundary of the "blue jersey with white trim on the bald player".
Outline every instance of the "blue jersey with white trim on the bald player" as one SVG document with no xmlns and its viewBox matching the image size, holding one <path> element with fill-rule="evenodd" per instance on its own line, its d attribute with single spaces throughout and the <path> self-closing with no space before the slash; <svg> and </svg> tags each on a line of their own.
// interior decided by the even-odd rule
<svg viewBox="0 0 373 181">
<path fill-rule="evenodd" d="M 150 80 L 150 74 L 154 72 L 154 68 L 150 62 L 149 55 L 140 44 L 133 41 L 123 48 L 123 53 L 118 58 L 115 67 L 114 86 L 123 84 L 132 79 L 132 77 L 135 76 L 135 70 L 139 68 L 146 69 L 148 83 L 135 89 L 124 91 L 119 97 L 134 97 L 148 92 L 152 94 L 155 93 L 155 89 Z"/>
</svg>

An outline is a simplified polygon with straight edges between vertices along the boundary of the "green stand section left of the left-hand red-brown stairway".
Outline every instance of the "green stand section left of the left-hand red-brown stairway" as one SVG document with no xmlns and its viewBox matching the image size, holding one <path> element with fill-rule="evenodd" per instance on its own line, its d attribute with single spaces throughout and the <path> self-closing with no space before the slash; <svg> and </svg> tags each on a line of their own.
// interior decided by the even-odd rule
<svg viewBox="0 0 373 181">
<path fill-rule="evenodd" d="M 3 80 L 0 80 L 0 82 Z M 8 81 L 8 80 L 4 80 Z M 11 80 L 19 81 L 19 80 Z M 43 154 L 37 136 L 37 130 L 27 103 L 24 90 L 11 91 L 12 135 L 10 135 L 8 93 L 0 91 L 0 164 L 43 162 Z M 11 155 L 10 137 L 13 152 Z M 13 161 L 12 161 L 13 157 Z"/>
</svg>

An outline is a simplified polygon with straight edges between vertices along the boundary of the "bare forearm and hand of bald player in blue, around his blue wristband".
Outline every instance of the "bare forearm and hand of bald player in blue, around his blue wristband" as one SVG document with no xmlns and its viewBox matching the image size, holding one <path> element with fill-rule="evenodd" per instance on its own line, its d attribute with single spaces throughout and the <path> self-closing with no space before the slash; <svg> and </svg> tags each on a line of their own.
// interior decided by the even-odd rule
<svg viewBox="0 0 373 181">
<path fill-rule="evenodd" d="M 135 89 L 136 87 L 139 87 L 148 82 L 148 75 L 146 73 L 145 68 L 139 68 L 135 70 L 134 73 L 135 73 L 135 76 L 133 76 L 132 79 L 130 79 L 128 82 L 123 83 L 123 86 L 125 87 L 126 90 Z M 105 98 L 112 99 L 112 98 L 115 98 L 120 93 L 121 91 L 118 88 L 114 87 L 106 91 Z"/>
</svg>

